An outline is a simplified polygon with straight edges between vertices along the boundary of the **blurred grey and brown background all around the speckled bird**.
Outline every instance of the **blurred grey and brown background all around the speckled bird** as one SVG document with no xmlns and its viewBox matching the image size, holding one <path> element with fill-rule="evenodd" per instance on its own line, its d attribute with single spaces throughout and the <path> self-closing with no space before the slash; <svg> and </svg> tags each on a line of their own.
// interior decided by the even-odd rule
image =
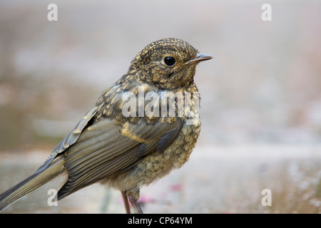
<svg viewBox="0 0 321 228">
<path fill-rule="evenodd" d="M 202 130 L 182 169 L 143 188 L 143 211 L 320 213 L 320 27 L 312 0 L 0 1 L 0 192 L 46 160 L 144 46 L 177 37 L 215 57 L 195 75 Z M 59 185 L 2 213 L 125 212 L 98 185 L 49 207 Z"/>
</svg>

